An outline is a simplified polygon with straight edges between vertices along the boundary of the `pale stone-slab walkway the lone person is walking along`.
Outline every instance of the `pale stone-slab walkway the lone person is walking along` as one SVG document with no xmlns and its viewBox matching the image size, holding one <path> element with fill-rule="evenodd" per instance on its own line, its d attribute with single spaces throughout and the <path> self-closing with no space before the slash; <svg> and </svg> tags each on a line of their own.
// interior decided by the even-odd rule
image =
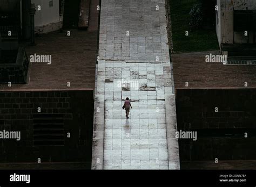
<svg viewBox="0 0 256 187">
<path fill-rule="evenodd" d="M 102 0 L 92 169 L 179 169 L 165 14 L 164 0 Z"/>
</svg>

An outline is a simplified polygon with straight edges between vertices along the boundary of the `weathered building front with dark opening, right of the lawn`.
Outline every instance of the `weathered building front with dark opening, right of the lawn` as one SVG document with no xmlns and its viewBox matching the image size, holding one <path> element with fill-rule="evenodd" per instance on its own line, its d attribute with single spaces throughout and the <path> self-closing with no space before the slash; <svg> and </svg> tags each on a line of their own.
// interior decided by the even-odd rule
<svg viewBox="0 0 256 187">
<path fill-rule="evenodd" d="M 229 57 L 255 56 L 256 1 L 217 0 L 217 9 L 216 32 L 221 53 Z"/>
</svg>

